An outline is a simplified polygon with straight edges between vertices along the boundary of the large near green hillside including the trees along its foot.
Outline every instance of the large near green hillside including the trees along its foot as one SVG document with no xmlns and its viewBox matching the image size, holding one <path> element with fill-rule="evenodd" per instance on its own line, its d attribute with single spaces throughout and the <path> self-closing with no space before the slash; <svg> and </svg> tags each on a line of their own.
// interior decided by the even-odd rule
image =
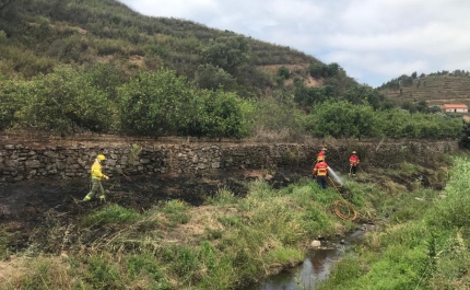
<svg viewBox="0 0 470 290">
<path fill-rule="evenodd" d="M 458 138 L 461 123 L 393 108 L 338 63 L 114 1 L 0 5 L 0 130 L 289 140 Z M 339 114 L 341 112 L 341 114 Z"/>
</svg>

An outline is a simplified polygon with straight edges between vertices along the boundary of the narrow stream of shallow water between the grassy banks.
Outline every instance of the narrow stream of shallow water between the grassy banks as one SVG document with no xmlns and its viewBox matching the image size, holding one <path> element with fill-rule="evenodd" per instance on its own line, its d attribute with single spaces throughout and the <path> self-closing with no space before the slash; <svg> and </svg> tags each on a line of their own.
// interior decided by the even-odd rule
<svg viewBox="0 0 470 290">
<path fill-rule="evenodd" d="M 321 246 L 307 253 L 304 262 L 289 271 L 268 277 L 266 280 L 250 285 L 243 290 L 314 290 L 317 285 L 328 279 L 330 269 L 345 250 L 361 243 L 364 229 L 374 225 L 364 224 L 361 230 L 350 233 L 341 241 L 322 241 Z"/>
</svg>

